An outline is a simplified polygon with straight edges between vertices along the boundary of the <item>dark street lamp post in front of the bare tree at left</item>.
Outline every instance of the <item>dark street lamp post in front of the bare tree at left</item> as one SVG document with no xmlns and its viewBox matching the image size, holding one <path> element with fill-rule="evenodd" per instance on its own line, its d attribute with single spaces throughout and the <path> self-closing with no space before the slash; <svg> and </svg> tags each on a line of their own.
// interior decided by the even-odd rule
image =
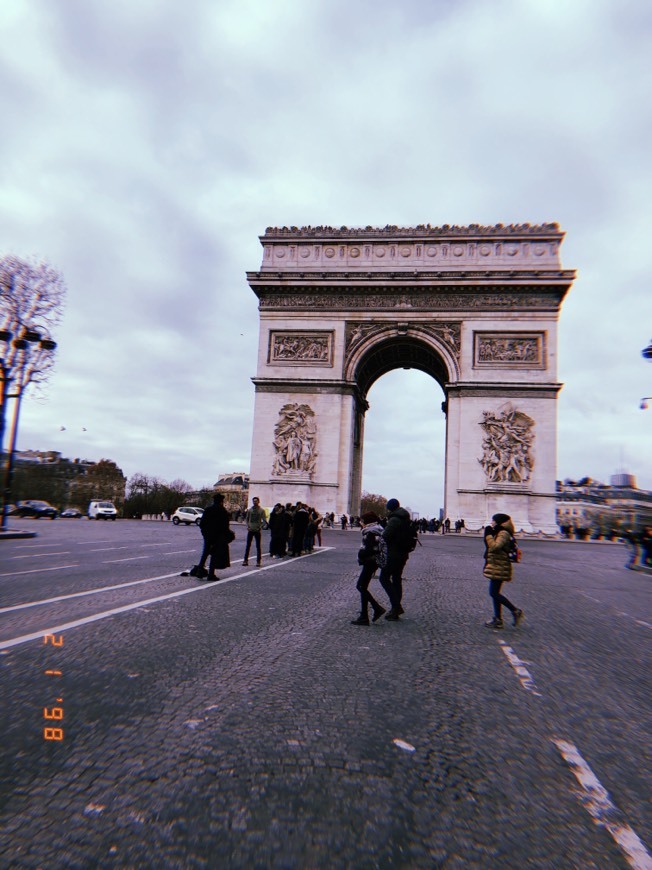
<svg viewBox="0 0 652 870">
<path fill-rule="evenodd" d="M 4 430 L 6 420 L 6 404 L 7 399 L 14 399 L 14 415 L 11 423 L 11 434 L 9 436 L 9 445 L 7 450 L 7 460 L 4 472 L 3 488 L 2 488 L 2 516 L 0 519 L 0 530 L 4 531 L 7 527 L 7 507 L 11 500 L 11 486 L 14 477 L 14 455 L 16 452 L 16 438 L 18 435 L 18 421 L 20 418 L 20 403 L 23 397 L 25 388 L 31 380 L 32 373 L 36 370 L 39 364 L 39 358 L 50 354 L 55 350 L 57 344 L 49 338 L 43 336 L 33 329 L 24 329 L 19 338 L 13 338 L 8 330 L 0 331 L 0 341 L 3 341 L 6 346 L 11 345 L 19 353 L 18 364 L 14 367 L 15 374 L 12 376 L 6 360 L 2 359 L 2 386 L 0 388 L 2 407 L 0 408 L 0 454 L 4 456 Z M 37 354 L 36 359 L 32 360 L 31 353 L 35 349 Z M 33 365 L 30 366 L 30 362 Z M 15 382 L 14 392 L 9 392 L 9 384 Z"/>
</svg>

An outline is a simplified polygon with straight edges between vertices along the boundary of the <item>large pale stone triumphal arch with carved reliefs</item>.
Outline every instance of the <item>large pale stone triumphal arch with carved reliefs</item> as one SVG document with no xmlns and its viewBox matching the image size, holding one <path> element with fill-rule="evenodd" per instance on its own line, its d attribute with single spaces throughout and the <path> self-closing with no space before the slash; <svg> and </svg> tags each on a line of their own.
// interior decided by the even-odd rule
<svg viewBox="0 0 652 870">
<path fill-rule="evenodd" d="M 250 489 L 358 513 L 367 393 L 416 368 L 446 397 L 446 515 L 478 528 L 501 510 L 556 531 L 557 320 L 575 277 L 562 239 L 556 224 L 269 228 L 247 273 Z"/>
</svg>

